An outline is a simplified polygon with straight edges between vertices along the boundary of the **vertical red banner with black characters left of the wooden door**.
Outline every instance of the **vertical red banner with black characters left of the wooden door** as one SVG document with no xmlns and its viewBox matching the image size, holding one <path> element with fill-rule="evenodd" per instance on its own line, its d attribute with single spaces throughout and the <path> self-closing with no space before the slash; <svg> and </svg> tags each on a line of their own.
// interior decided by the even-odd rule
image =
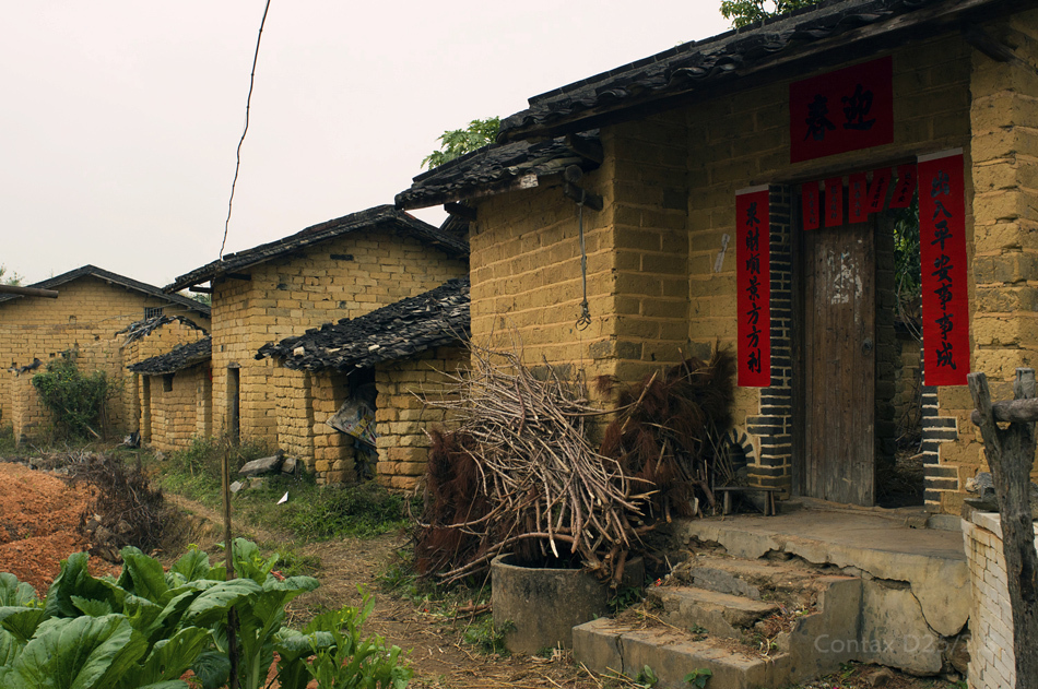
<svg viewBox="0 0 1038 689">
<path fill-rule="evenodd" d="M 771 384 L 771 228 L 768 188 L 735 192 L 739 384 Z"/>
</svg>

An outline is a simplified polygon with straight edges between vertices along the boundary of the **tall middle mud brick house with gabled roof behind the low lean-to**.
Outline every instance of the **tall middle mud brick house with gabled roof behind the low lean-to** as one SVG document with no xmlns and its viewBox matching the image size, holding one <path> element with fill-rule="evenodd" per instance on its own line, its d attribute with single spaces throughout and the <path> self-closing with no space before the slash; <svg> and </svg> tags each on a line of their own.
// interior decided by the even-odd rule
<svg viewBox="0 0 1038 689">
<path fill-rule="evenodd" d="M 334 414 L 354 383 L 340 377 L 317 384 L 271 359 L 257 359 L 257 351 L 428 292 L 468 269 L 468 245 L 460 234 L 384 205 L 225 256 L 178 277 L 166 292 L 202 283 L 212 290 L 213 432 L 299 452 L 308 465 L 331 467 L 323 478 L 341 480 L 352 466 L 352 439 L 326 433 L 327 417 L 320 414 L 325 407 Z M 153 438 L 156 432 L 153 424 Z"/>
</svg>

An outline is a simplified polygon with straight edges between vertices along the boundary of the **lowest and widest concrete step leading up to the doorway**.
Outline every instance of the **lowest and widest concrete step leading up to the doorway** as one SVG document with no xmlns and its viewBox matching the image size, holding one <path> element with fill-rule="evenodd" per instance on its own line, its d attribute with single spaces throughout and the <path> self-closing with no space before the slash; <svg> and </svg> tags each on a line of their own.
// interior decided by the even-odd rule
<svg viewBox="0 0 1038 689">
<path fill-rule="evenodd" d="M 739 651 L 717 639 L 695 641 L 680 631 L 635 629 L 610 619 L 597 619 L 573 630 L 574 657 L 597 673 L 614 670 L 637 677 L 648 665 L 660 689 L 687 689 L 685 676 L 709 669 L 711 689 L 780 687 L 789 676 L 789 656 L 762 657 Z"/>
</svg>

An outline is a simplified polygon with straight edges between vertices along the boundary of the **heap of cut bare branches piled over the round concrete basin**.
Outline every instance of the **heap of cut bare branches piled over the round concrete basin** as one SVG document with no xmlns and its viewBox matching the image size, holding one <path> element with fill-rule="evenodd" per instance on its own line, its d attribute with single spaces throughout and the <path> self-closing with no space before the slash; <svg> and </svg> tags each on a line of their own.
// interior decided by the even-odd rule
<svg viewBox="0 0 1038 689">
<path fill-rule="evenodd" d="M 642 516 L 653 486 L 591 447 L 585 420 L 601 412 L 579 380 L 549 366 L 534 376 L 515 353 L 472 347 L 471 357 L 453 394 L 429 402 L 459 427 L 430 433 L 420 569 L 456 581 L 511 551 L 618 582 L 651 528 Z"/>
</svg>

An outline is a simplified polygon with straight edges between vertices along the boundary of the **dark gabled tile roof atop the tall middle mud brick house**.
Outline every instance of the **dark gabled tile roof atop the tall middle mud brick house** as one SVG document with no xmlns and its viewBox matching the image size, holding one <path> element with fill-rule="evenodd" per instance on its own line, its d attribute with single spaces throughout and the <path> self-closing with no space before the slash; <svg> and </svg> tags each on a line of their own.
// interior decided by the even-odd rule
<svg viewBox="0 0 1038 689">
<path fill-rule="evenodd" d="M 266 263 L 271 259 L 284 256 L 288 252 L 310 247 L 329 239 L 334 239 L 342 235 L 374 229 L 378 231 L 396 231 L 408 235 L 435 246 L 449 256 L 465 257 L 469 254 L 469 246 L 461 239 L 439 228 L 423 223 L 418 218 L 398 211 L 391 205 L 378 205 L 367 211 L 352 213 L 338 217 L 312 227 L 307 227 L 303 231 L 290 235 L 276 241 L 271 241 L 245 251 L 228 253 L 222 260 L 213 261 L 202 268 L 196 269 L 165 287 L 166 292 L 177 292 L 190 285 L 203 283 L 225 273 L 243 271 L 259 263 Z"/>
</svg>

